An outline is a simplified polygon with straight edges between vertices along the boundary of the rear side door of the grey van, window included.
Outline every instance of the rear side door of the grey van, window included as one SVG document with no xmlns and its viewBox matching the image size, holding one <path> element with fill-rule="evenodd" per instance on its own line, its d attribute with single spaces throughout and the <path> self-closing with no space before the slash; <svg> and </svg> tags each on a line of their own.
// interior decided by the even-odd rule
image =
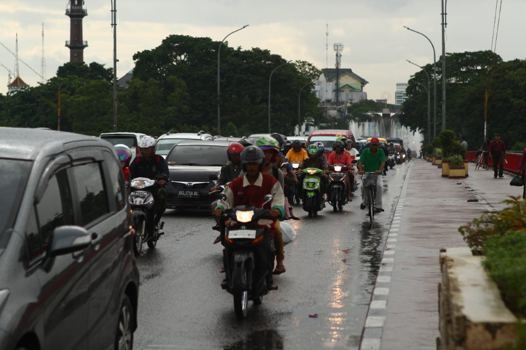
<svg viewBox="0 0 526 350">
<path fill-rule="evenodd" d="M 122 299 L 123 237 L 126 225 L 124 178 L 114 155 L 90 147 L 100 161 L 75 161 L 70 169 L 75 206 L 83 226 L 94 238 L 90 248 L 88 346 L 105 349 L 115 340 Z M 107 153 L 106 156 L 103 155 Z M 108 163 L 108 164 L 106 164 Z M 112 166 L 113 165 L 113 166 Z"/>
</svg>

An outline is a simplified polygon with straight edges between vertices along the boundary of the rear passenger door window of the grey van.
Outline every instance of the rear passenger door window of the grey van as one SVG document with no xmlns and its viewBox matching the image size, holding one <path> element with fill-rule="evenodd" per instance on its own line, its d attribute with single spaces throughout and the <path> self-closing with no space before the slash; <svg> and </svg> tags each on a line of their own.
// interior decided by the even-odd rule
<svg viewBox="0 0 526 350">
<path fill-rule="evenodd" d="M 99 163 L 77 165 L 72 175 L 80 201 L 80 225 L 87 226 L 98 218 L 108 214 L 108 196 L 104 187 Z"/>
</svg>

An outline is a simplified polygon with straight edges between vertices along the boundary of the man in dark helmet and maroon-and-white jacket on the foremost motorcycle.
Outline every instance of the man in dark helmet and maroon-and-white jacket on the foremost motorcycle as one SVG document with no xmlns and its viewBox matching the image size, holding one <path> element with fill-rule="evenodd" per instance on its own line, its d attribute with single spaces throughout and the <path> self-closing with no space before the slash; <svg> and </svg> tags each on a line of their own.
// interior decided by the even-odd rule
<svg viewBox="0 0 526 350">
<path fill-rule="evenodd" d="M 235 178 L 225 188 L 223 193 L 226 199 L 219 200 L 215 215 L 221 216 L 225 208 L 234 208 L 240 205 L 249 205 L 261 208 L 266 195 L 272 195 L 270 203 L 270 217 L 274 219 L 273 225 L 279 227 L 279 219 L 285 216 L 285 195 L 277 179 L 269 174 L 263 173 L 265 154 L 259 147 L 249 146 L 241 152 L 241 166 L 244 175 Z M 267 204 L 268 206 L 268 204 Z M 277 236 L 277 232 L 275 234 Z M 272 271 L 274 264 L 274 253 L 271 251 L 271 241 L 268 244 L 269 250 L 269 272 Z M 227 249 L 227 248 L 225 248 Z M 278 286 L 272 280 L 272 274 L 267 274 L 267 288 L 276 290 Z"/>
</svg>

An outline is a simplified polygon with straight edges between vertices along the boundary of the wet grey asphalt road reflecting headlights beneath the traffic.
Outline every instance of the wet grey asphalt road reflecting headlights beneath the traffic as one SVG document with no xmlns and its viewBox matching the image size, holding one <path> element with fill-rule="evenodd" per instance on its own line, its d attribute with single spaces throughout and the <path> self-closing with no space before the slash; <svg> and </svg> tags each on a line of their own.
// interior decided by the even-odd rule
<svg viewBox="0 0 526 350">
<path fill-rule="evenodd" d="M 370 230 L 359 192 L 333 213 L 316 218 L 296 206 L 298 232 L 285 247 L 287 272 L 275 277 L 279 290 L 262 305 L 249 303 L 244 321 L 232 296 L 221 290 L 222 247 L 208 213 L 168 210 L 157 249 L 138 257 L 141 275 L 137 349 L 358 349 L 372 283 L 407 164 L 384 178 L 385 213 Z M 318 314 L 317 318 L 309 315 Z"/>
</svg>

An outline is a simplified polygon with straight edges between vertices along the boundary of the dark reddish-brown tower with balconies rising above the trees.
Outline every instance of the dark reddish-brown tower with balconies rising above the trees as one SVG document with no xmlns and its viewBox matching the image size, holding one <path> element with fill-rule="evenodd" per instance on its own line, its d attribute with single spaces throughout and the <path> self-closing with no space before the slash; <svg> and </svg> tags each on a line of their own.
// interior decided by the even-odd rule
<svg viewBox="0 0 526 350">
<path fill-rule="evenodd" d="M 70 62 L 84 62 L 84 48 L 88 47 L 88 42 L 82 38 L 82 19 L 88 15 L 83 5 L 84 0 L 69 0 L 66 8 L 70 25 L 69 40 L 65 46 L 69 48 Z"/>
</svg>

